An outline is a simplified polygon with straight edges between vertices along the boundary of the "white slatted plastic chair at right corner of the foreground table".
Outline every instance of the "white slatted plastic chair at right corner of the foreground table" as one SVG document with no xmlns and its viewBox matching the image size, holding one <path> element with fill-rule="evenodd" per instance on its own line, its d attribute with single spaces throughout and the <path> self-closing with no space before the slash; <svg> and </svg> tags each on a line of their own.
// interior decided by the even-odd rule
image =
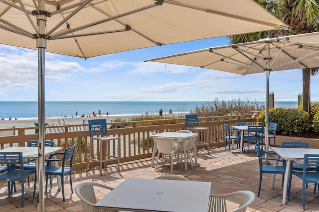
<svg viewBox="0 0 319 212">
<path fill-rule="evenodd" d="M 255 200 L 256 195 L 251 191 L 238 191 L 222 195 L 210 195 L 208 212 L 227 212 L 226 199 L 241 196 L 239 207 L 231 212 L 245 212 L 247 207 Z M 232 198 L 234 199 L 234 198 Z"/>
</svg>

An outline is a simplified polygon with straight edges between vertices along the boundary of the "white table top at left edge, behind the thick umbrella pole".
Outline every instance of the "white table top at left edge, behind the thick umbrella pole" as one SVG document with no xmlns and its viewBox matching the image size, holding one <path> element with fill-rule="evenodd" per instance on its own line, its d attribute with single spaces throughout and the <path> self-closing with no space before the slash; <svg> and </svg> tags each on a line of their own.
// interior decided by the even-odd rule
<svg viewBox="0 0 319 212">
<path fill-rule="evenodd" d="M 44 147 L 44 155 L 49 155 L 60 149 L 62 149 L 62 147 Z M 22 152 L 23 158 L 38 158 L 38 147 L 36 146 L 11 146 L 9 148 L 1 149 L 0 152 Z"/>
</svg>

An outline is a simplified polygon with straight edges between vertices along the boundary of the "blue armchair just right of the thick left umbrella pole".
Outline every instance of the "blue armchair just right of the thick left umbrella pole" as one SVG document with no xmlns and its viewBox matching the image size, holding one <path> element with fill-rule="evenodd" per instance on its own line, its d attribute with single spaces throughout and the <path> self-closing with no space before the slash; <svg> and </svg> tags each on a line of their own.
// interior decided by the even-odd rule
<svg viewBox="0 0 319 212">
<path fill-rule="evenodd" d="M 69 174 L 70 175 L 70 185 L 71 185 L 71 193 L 73 194 L 73 188 L 72 188 L 72 160 L 73 160 L 73 153 L 74 153 L 75 145 L 66 148 L 64 152 L 58 152 L 51 154 L 49 159 L 45 159 L 47 161 L 47 166 L 45 167 L 45 175 L 46 175 L 46 184 L 45 184 L 45 192 L 47 192 L 48 187 L 48 176 L 55 175 L 55 176 L 61 176 L 61 190 L 62 190 L 62 197 L 63 202 L 65 202 L 65 196 L 64 196 L 64 176 Z M 59 158 L 60 156 L 63 156 L 62 158 Z M 56 156 L 56 158 L 54 158 Z M 54 159 L 53 159 L 54 158 Z M 61 162 L 62 166 L 54 166 L 52 162 Z M 65 167 L 66 164 L 70 164 L 69 167 Z M 52 182 L 50 183 L 50 186 L 52 188 Z"/>
</svg>

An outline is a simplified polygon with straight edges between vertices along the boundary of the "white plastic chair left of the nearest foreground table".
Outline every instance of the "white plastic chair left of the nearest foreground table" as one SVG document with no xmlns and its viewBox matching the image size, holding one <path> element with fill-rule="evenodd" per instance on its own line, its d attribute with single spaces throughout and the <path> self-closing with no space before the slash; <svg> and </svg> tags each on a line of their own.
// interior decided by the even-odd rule
<svg viewBox="0 0 319 212">
<path fill-rule="evenodd" d="M 81 182 L 77 184 L 74 188 L 76 195 L 82 201 L 82 206 L 84 212 L 94 212 L 95 207 L 94 204 L 97 203 L 94 187 L 106 188 L 109 190 L 113 190 L 113 188 L 105 186 L 104 184 L 96 183 L 96 182 Z M 111 212 L 110 210 L 98 209 L 99 212 Z"/>
</svg>

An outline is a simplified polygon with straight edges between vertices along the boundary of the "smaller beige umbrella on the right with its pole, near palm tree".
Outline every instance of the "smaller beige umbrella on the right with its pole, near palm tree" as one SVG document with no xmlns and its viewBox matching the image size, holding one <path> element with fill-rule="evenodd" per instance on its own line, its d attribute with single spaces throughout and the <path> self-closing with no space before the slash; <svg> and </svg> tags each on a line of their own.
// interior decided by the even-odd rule
<svg viewBox="0 0 319 212">
<path fill-rule="evenodd" d="M 273 71 L 319 67 L 319 32 L 211 47 L 147 61 L 195 66 L 241 75 L 265 73 L 265 143 L 269 129 L 269 75 Z M 249 84 L 248 84 L 249 85 Z"/>
</svg>

